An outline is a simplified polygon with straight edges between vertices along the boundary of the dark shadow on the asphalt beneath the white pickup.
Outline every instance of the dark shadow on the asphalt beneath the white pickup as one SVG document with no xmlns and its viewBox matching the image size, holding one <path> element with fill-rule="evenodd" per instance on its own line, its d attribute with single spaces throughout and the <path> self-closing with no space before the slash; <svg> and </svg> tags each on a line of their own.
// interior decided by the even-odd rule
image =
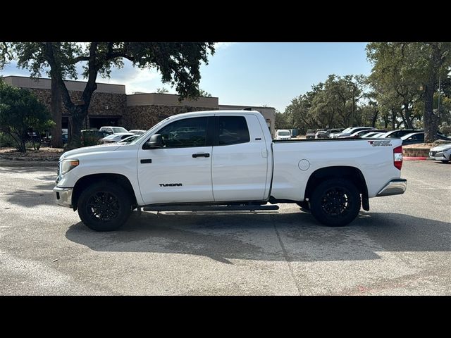
<svg viewBox="0 0 451 338">
<path fill-rule="evenodd" d="M 361 213 L 347 227 L 324 227 L 309 213 L 132 215 L 116 232 L 81 222 L 66 237 L 94 251 L 179 253 L 222 263 L 354 261 L 381 251 L 451 251 L 451 224 L 397 213 Z M 284 250 L 280 243 L 283 244 Z"/>
</svg>

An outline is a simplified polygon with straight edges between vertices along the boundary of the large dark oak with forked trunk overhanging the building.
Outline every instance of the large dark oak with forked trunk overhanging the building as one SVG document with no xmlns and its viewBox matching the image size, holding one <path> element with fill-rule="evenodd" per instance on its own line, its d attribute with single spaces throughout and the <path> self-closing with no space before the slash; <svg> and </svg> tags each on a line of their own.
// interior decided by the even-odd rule
<svg viewBox="0 0 451 338">
<path fill-rule="evenodd" d="M 39 76 L 45 67 L 61 89 L 63 104 L 70 113 L 70 148 L 80 146 L 82 121 L 87 117 L 97 75 L 109 77 L 113 67 L 122 68 L 123 59 L 138 68 L 156 68 L 162 82 L 175 86 L 180 99 L 199 96 L 199 67 L 214 54 L 211 42 L 14 42 L 0 48 L 4 61 L 15 58 L 18 66 Z M 8 61 L 7 60 L 7 61 Z M 77 78 L 75 65 L 83 62 L 85 89 L 78 100 L 72 99 L 64 78 Z M 1 63 L 1 61 L 0 61 Z"/>
</svg>

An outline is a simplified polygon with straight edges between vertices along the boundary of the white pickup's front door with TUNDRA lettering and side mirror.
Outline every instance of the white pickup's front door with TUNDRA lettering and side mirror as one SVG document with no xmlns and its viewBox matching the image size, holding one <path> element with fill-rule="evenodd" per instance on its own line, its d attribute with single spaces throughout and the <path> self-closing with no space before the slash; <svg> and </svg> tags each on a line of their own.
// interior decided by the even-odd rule
<svg viewBox="0 0 451 338">
<path fill-rule="evenodd" d="M 213 116 L 175 120 L 155 133 L 161 134 L 162 148 L 139 149 L 137 172 L 145 204 L 213 201 L 208 127 L 213 130 Z"/>
</svg>

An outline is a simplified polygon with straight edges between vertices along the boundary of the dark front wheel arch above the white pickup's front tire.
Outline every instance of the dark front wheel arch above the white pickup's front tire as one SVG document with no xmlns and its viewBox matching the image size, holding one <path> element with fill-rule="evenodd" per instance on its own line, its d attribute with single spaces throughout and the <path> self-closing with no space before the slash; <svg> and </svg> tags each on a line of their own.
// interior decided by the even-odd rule
<svg viewBox="0 0 451 338">
<path fill-rule="evenodd" d="M 132 184 L 130 183 L 130 180 L 128 180 L 128 177 L 121 174 L 111 174 L 111 173 L 92 174 L 81 177 L 75 183 L 72 193 L 73 211 L 77 210 L 78 199 L 80 198 L 80 194 L 83 192 L 83 190 L 85 190 L 86 187 L 89 187 L 89 184 L 100 181 L 106 181 L 111 182 L 111 184 L 121 185 L 121 187 L 123 187 L 123 189 L 125 189 L 125 191 L 128 192 L 128 194 L 130 195 L 130 199 L 132 201 L 133 206 L 137 205 L 135 191 L 133 190 Z"/>
</svg>

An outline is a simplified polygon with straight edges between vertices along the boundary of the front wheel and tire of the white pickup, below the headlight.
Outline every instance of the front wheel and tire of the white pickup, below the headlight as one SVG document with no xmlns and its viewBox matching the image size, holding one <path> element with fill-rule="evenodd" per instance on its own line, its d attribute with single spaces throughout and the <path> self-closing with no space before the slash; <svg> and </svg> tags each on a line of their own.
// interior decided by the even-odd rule
<svg viewBox="0 0 451 338">
<path fill-rule="evenodd" d="M 113 231 L 128 220 L 132 202 L 123 187 L 103 181 L 87 187 L 80 194 L 77 207 L 82 223 L 89 229 Z"/>
</svg>

